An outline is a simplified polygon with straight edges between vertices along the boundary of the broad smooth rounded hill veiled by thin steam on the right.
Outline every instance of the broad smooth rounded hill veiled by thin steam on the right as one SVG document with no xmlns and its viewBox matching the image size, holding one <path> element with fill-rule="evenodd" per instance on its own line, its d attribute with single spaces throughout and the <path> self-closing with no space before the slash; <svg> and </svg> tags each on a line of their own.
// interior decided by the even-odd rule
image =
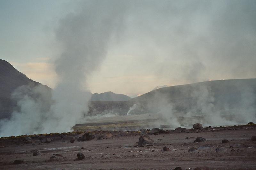
<svg viewBox="0 0 256 170">
<path fill-rule="evenodd" d="M 146 112 L 158 112 L 171 104 L 178 113 L 256 110 L 256 78 L 205 81 L 187 85 L 163 87 L 129 100 L 144 107 Z"/>
</svg>

